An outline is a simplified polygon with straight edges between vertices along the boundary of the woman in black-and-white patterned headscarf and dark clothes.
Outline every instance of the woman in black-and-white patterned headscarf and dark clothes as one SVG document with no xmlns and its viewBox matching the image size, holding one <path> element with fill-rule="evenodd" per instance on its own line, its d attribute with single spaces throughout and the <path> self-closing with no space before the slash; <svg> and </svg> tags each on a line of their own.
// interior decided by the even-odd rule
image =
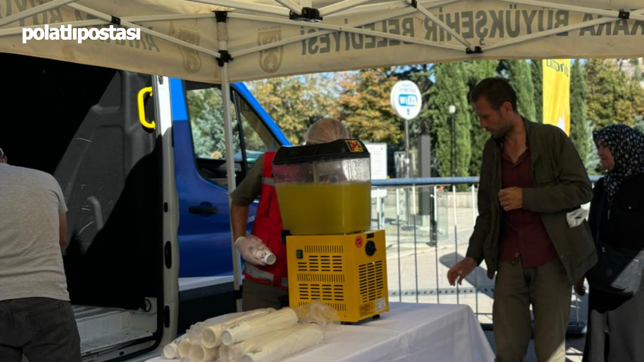
<svg viewBox="0 0 644 362">
<path fill-rule="evenodd" d="M 599 261 L 586 274 L 583 362 L 644 361 L 644 135 L 614 124 L 593 138 L 607 173 L 594 187 L 589 214 Z M 583 280 L 574 287 L 585 294 Z"/>
</svg>

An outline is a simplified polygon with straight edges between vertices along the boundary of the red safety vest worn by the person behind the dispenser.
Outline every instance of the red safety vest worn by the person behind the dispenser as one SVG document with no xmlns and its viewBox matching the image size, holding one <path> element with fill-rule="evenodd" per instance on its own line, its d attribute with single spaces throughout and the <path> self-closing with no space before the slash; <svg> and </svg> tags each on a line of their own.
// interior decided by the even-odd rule
<svg viewBox="0 0 644 362">
<path fill-rule="evenodd" d="M 269 247 L 277 260 L 273 265 L 254 265 L 246 262 L 243 274 L 246 278 L 258 283 L 289 289 L 286 245 L 282 243 L 281 239 L 283 226 L 273 178 L 273 158 L 275 158 L 275 152 L 264 153 L 264 164 L 261 169 L 260 205 L 257 207 L 251 233 Z"/>
</svg>

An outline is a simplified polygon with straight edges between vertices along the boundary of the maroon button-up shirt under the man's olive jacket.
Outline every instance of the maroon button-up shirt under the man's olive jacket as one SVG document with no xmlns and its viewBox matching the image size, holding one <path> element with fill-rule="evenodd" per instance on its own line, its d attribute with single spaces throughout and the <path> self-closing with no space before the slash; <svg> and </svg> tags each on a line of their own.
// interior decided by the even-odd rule
<svg viewBox="0 0 644 362">
<path fill-rule="evenodd" d="M 504 189 L 532 187 L 530 170 L 529 150 L 526 149 L 519 156 L 516 164 L 505 152 L 501 152 L 501 180 Z M 557 252 L 539 213 L 526 209 L 503 211 L 500 260 L 516 264 L 520 258 L 523 267 L 540 267 L 556 257 Z"/>
</svg>

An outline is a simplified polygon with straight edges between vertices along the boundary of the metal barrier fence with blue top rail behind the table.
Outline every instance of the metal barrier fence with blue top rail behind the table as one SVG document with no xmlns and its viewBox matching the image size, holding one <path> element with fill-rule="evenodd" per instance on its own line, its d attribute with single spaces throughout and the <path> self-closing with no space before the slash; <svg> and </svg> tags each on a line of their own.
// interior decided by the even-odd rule
<svg viewBox="0 0 644 362">
<path fill-rule="evenodd" d="M 598 178 L 592 176 L 592 183 Z M 373 180 L 372 227 L 386 233 L 391 300 L 468 304 L 489 329 L 494 280 L 485 262 L 463 285 L 447 281 L 447 271 L 464 258 L 478 216 L 477 184 L 478 177 Z M 573 296 L 569 333 L 578 334 L 585 331 L 583 302 Z"/>
</svg>

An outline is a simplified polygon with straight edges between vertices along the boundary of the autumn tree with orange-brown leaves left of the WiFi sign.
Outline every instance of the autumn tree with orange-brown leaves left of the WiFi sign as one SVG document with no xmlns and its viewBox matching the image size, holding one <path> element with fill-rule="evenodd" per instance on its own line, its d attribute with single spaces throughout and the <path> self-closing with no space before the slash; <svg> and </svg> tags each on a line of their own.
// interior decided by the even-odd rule
<svg viewBox="0 0 644 362">
<path fill-rule="evenodd" d="M 397 80 L 383 69 L 345 73 L 333 117 L 345 123 L 352 137 L 397 144 L 404 139 L 403 121 L 389 100 Z"/>
</svg>

